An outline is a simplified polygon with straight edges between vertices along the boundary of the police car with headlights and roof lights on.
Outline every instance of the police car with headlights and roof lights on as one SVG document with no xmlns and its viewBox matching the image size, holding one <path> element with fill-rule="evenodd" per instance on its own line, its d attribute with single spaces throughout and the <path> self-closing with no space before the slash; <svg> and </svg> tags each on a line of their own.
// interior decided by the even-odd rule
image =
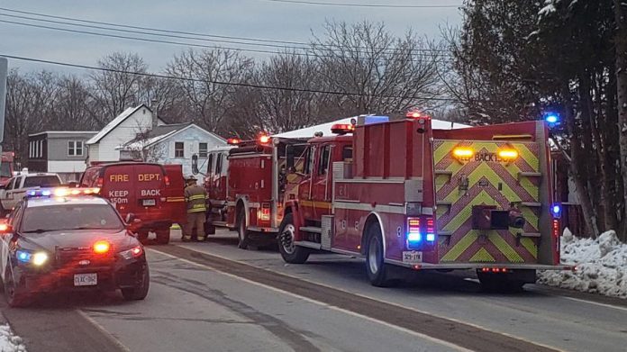
<svg viewBox="0 0 627 352">
<path fill-rule="evenodd" d="M 28 191 L 0 222 L 0 277 L 10 306 L 41 293 L 113 291 L 142 300 L 150 285 L 144 248 L 97 188 Z M 127 223 L 127 222 L 130 222 Z"/>
</svg>

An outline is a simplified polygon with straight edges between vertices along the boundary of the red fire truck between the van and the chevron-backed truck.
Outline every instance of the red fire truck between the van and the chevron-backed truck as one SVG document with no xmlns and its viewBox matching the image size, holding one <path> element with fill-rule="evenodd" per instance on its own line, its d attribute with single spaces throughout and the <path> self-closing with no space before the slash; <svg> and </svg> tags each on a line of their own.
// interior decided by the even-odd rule
<svg viewBox="0 0 627 352">
<path fill-rule="evenodd" d="M 193 157 L 192 169 L 203 174 L 209 194 L 205 231 L 214 233 L 216 227 L 237 230 L 239 248 L 276 243 L 286 189 L 300 177 L 287 176 L 286 149 L 304 149 L 306 140 L 261 135 L 257 140 L 228 142 L 230 147 L 207 153 L 206 168 L 198 166 L 198 157 Z"/>
</svg>

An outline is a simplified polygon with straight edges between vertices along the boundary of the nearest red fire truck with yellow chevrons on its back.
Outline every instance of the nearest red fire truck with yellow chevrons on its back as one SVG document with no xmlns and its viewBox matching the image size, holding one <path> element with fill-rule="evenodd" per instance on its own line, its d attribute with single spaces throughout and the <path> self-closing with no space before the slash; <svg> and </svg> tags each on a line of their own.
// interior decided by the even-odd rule
<svg viewBox="0 0 627 352">
<path fill-rule="evenodd" d="M 296 196 L 285 202 L 278 247 L 287 263 L 319 251 L 362 256 L 378 286 L 392 282 L 395 266 L 474 269 L 490 289 L 568 269 L 546 122 L 444 131 L 408 113 L 334 131 L 309 140 Z M 286 155 L 294 170 L 295 153 Z"/>
</svg>

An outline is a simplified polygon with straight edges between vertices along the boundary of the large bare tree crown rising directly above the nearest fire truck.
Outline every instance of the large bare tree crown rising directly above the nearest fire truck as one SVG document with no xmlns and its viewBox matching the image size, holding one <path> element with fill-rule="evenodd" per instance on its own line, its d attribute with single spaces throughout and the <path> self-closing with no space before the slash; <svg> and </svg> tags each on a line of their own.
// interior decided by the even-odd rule
<svg viewBox="0 0 627 352">
<path fill-rule="evenodd" d="M 413 32 L 395 38 L 383 23 L 325 25 L 312 48 L 328 90 L 343 92 L 335 103 L 354 113 L 402 112 L 431 106 L 439 95 L 437 51 Z"/>
</svg>

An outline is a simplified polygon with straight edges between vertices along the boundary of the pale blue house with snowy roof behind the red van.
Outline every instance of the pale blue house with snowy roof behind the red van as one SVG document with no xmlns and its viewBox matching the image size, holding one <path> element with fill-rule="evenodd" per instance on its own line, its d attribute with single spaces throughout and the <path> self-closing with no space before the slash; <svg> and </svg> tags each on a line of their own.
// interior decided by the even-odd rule
<svg viewBox="0 0 627 352">
<path fill-rule="evenodd" d="M 183 166 L 183 175 L 192 175 L 193 155 L 197 155 L 202 163 L 209 150 L 225 145 L 223 138 L 187 122 L 158 125 L 116 149 L 122 159 L 179 164 Z"/>
</svg>

